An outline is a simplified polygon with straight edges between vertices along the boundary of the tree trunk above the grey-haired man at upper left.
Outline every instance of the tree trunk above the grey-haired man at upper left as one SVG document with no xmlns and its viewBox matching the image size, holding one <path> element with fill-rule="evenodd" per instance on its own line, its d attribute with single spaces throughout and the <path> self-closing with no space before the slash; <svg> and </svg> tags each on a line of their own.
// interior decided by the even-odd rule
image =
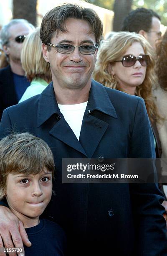
<svg viewBox="0 0 167 256">
<path fill-rule="evenodd" d="M 13 0 L 13 19 L 26 19 L 36 26 L 37 0 Z"/>
</svg>

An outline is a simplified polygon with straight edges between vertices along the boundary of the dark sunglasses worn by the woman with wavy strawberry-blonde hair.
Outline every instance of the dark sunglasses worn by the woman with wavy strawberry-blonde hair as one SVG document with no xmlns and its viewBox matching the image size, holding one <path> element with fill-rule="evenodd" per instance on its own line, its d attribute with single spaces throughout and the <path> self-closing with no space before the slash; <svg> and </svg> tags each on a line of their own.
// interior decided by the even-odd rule
<svg viewBox="0 0 167 256">
<path fill-rule="evenodd" d="M 149 58 L 149 55 L 147 55 L 147 54 L 139 55 L 138 57 L 135 57 L 131 54 L 125 55 L 122 58 L 121 62 L 124 67 L 132 67 L 136 63 L 137 60 L 144 67 L 147 67 L 150 63 L 150 58 Z M 114 61 L 114 62 L 119 62 L 119 61 Z"/>
</svg>

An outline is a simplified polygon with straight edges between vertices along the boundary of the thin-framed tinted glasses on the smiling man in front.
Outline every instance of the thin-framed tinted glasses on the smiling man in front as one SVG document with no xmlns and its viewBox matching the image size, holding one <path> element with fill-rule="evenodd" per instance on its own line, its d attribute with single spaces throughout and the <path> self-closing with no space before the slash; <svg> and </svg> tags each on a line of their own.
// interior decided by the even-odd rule
<svg viewBox="0 0 167 256">
<path fill-rule="evenodd" d="M 62 54 L 71 54 L 75 50 L 75 48 L 78 48 L 81 54 L 90 55 L 90 54 L 94 54 L 96 49 L 98 49 L 98 46 L 92 46 L 92 45 L 73 46 L 71 44 L 54 45 L 50 43 L 47 43 L 47 45 L 55 47 L 57 51 Z"/>
</svg>

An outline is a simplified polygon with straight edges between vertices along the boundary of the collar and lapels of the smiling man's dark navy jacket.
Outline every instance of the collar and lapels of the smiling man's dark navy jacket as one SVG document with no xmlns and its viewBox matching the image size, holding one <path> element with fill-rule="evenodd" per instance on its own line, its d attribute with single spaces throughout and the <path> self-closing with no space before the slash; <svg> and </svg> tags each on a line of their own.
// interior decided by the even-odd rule
<svg viewBox="0 0 167 256">
<path fill-rule="evenodd" d="M 46 106 L 48 106 L 47 109 Z M 117 118 L 114 106 L 104 86 L 92 81 L 88 105 L 83 116 L 78 141 L 58 108 L 53 83 L 51 82 L 40 95 L 37 124 L 39 127 L 49 118 L 54 118 L 55 121 L 49 133 L 71 148 L 81 152 L 86 157 L 91 158 L 109 125 L 104 121 L 106 115 Z M 59 120 L 56 120 L 56 116 L 59 117 Z"/>
</svg>

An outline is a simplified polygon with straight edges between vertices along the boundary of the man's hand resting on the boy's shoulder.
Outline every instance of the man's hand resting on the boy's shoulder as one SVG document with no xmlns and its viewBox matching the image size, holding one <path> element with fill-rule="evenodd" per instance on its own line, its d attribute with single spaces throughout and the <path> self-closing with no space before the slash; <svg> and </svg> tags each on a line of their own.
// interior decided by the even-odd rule
<svg viewBox="0 0 167 256">
<path fill-rule="evenodd" d="M 0 205 L 0 256 L 6 256 L 4 248 L 22 248 L 19 256 L 24 256 L 25 246 L 31 246 L 23 223 L 10 211 L 8 207 Z M 16 256 L 16 252 L 8 252 L 9 256 Z"/>
</svg>

